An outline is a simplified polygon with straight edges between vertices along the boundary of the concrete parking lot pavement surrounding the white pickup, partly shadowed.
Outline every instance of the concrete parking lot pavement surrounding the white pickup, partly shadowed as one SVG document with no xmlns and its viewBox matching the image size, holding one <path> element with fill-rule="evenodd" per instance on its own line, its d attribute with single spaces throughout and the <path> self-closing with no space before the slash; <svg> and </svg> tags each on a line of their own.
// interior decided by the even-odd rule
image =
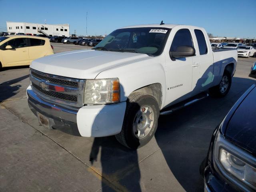
<svg viewBox="0 0 256 192">
<path fill-rule="evenodd" d="M 56 53 L 90 49 L 52 43 Z M 199 166 L 214 128 L 255 79 L 256 58 L 238 58 L 225 98 L 161 116 L 155 137 L 131 151 L 114 136 L 82 138 L 39 126 L 29 110 L 28 67 L 0 71 L 0 191 L 204 191 Z M 91 161 L 90 161 L 91 160 Z"/>
</svg>

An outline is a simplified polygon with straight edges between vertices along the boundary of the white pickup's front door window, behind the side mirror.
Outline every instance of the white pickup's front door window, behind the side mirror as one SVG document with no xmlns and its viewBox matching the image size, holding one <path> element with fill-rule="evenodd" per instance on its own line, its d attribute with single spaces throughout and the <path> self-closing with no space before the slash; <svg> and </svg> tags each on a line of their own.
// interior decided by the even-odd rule
<svg viewBox="0 0 256 192">
<path fill-rule="evenodd" d="M 193 46 L 192 36 L 188 29 L 180 29 L 176 32 L 170 51 L 176 51 L 179 46 Z"/>
</svg>

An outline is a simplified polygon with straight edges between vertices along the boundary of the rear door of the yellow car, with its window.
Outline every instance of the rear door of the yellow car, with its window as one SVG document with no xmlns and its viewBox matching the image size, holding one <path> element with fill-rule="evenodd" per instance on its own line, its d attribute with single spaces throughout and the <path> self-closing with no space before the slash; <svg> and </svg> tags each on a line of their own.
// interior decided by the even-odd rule
<svg viewBox="0 0 256 192">
<path fill-rule="evenodd" d="M 37 38 L 29 38 L 29 61 L 35 60 L 37 58 L 43 57 L 46 55 L 46 48 L 44 46 L 45 40 Z"/>
</svg>

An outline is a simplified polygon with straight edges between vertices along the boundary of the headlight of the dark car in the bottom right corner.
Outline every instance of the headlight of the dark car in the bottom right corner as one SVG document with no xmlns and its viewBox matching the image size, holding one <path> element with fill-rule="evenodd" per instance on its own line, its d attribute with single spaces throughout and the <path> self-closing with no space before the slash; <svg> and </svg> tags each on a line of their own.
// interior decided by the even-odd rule
<svg viewBox="0 0 256 192">
<path fill-rule="evenodd" d="M 234 178 L 237 178 L 256 189 L 256 158 L 228 142 L 219 132 L 214 143 L 214 161 L 231 181 L 236 182 Z"/>
</svg>

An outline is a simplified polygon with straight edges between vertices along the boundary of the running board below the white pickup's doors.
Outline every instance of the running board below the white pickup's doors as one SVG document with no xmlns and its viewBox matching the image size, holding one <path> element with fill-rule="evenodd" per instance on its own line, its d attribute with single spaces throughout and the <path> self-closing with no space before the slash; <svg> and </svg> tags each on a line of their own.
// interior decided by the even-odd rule
<svg viewBox="0 0 256 192">
<path fill-rule="evenodd" d="M 165 109 L 163 109 L 162 111 L 160 111 L 160 115 L 168 115 L 168 114 L 171 114 L 172 112 L 176 111 L 176 110 L 179 110 L 181 108 L 184 108 L 188 105 L 191 105 L 195 102 L 198 102 L 200 101 L 201 99 L 204 99 L 206 97 L 208 97 L 209 95 L 207 93 L 200 93 L 190 99 L 187 99 L 183 102 L 180 102 L 180 103 L 177 103 L 177 104 L 174 104 L 173 106 L 170 106 L 170 107 L 167 107 Z"/>
</svg>

